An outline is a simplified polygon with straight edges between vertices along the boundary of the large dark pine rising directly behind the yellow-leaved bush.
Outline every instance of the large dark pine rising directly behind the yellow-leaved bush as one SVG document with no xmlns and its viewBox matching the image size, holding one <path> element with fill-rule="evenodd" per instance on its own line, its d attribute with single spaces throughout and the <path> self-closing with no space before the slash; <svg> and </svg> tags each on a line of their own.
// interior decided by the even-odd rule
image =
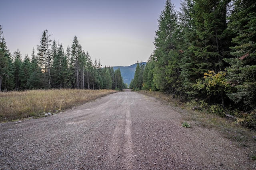
<svg viewBox="0 0 256 170">
<path fill-rule="evenodd" d="M 222 106 L 225 98 L 224 89 L 221 93 L 210 95 L 205 89 L 195 93 L 191 87 L 202 81 L 204 73 L 208 70 L 215 73 L 224 70 L 223 58 L 228 57 L 230 53 L 230 37 L 226 31 L 227 5 L 228 0 L 194 0 L 192 20 L 188 20 L 192 30 L 185 34 L 187 39 L 184 41 L 190 45 L 188 51 L 184 51 L 182 59 L 182 78 L 185 90 L 189 92 L 187 94 L 207 98 L 209 104 L 222 103 Z"/>
</svg>

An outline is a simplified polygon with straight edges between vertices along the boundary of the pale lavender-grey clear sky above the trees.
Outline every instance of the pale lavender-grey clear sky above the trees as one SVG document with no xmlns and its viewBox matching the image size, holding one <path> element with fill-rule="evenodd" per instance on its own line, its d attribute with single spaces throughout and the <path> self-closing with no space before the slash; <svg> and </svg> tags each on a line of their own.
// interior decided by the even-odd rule
<svg viewBox="0 0 256 170">
<path fill-rule="evenodd" d="M 171 0 L 176 10 L 180 0 Z M 64 51 L 78 37 L 92 62 L 130 66 L 154 50 L 158 18 L 166 0 L 1 0 L 0 25 L 13 54 L 31 58 L 45 29 Z M 37 51 L 36 51 L 37 53 Z"/>
</svg>

